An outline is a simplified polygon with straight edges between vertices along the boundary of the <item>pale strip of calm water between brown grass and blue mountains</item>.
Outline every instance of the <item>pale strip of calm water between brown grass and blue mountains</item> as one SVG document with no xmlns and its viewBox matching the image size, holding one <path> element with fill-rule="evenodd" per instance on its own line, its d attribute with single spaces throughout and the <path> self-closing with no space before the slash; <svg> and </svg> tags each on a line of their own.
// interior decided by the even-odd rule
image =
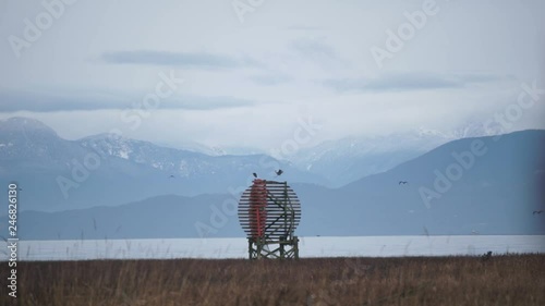
<svg viewBox="0 0 545 306">
<path fill-rule="evenodd" d="M 540 236 L 300 237 L 300 257 L 445 256 L 545 253 Z M 5 242 L 0 245 L 7 252 Z M 105 258 L 246 258 L 245 238 L 20 241 L 19 260 Z M 5 253 L 0 253 L 5 260 Z"/>
</svg>

